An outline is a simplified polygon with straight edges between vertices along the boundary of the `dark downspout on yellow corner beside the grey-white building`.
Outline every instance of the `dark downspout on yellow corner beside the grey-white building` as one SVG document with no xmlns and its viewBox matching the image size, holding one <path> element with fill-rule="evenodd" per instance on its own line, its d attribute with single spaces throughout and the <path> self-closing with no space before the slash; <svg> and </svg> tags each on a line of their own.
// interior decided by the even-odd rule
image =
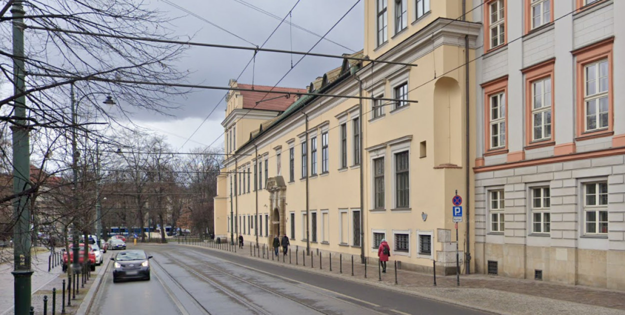
<svg viewBox="0 0 625 315">
<path fill-rule="evenodd" d="M 462 20 L 466 21 L 466 0 L 462 0 Z M 471 159 L 469 154 L 471 153 L 469 132 L 471 128 L 470 117 L 470 105 L 469 105 L 469 35 L 464 35 L 464 180 L 466 187 L 466 251 L 464 259 L 464 268 L 466 274 L 471 274 L 471 216 L 469 211 L 471 210 L 471 168 L 469 163 Z"/>
</svg>

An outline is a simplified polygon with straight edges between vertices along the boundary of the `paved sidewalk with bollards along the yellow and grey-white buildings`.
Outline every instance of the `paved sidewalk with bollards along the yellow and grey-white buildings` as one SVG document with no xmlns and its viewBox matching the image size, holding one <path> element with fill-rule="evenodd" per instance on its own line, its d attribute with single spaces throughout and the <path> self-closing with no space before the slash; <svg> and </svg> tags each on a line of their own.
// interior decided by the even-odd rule
<svg viewBox="0 0 625 315">
<path fill-rule="evenodd" d="M 172 244 L 176 244 L 172 242 Z M 183 244 L 181 244 L 183 245 Z M 187 245 L 184 245 L 187 246 Z M 205 243 L 201 247 L 227 251 L 229 246 L 221 244 Z M 247 256 L 250 259 L 263 259 L 261 252 L 252 247 L 250 255 L 249 242 L 243 249 L 236 249 L 236 254 Z M 189 247 L 199 247 L 197 245 Z M 271 251 L 267 259 L 267 247 L 265 247 L 265 261 L 272 261 Z M 232 249 L 234 254 L 234 249 Z M 260 256 L 260 257 L 258 257 Z M 302 251 L 298 252 L 297 265 L 295 247 L 291 250 L 291 264 L 289 255 L 280 260 L 274 260 L 276 264 L 286 267 L 306 268 L 307 271 L 319 272 L 334 277 L 342 277 L 352 281 L 365 282 L 375 286 L 383 286 L 387 289 L 399 292 L 416 294 L 417 296 L 436 299 L 437 301 L 450 302 L 461 306 L 481 309 L 497 314 L 625 314 L 625 292 L 612 291 L 584 286 L 569 286 L 552 282 L 534 281 L 528 279 L 514 279 L 502 276 L 487 276 L 484 274 L 461 275 L 460 286 L 456 286 L 456 276 L 437 276 L 437 286 L 433 286 L 434 279 L 430 274 L 420 274 L 412 271 L 397 270 L 397 284 L 395 284 L 395 270 L 393 261 L 389 261 L 387 273 L 379 274 L 377 259 L 369 257 L 367 264 L 367 277 L 364 277 L 364 264 L 360 264 L 360 256 L 354 255 L 354 276 L 351 276 L 351 255 L 343 255 L 342 274 L 338 255 L 332 254 L 332 271 L 329 271 L 329 256 L 327 252 L 321 253 L 321 268 L 319 256 L 316 250 L 311 256 L 306 257 L 306 267 L 302 266 Z M 391 257 L 392 258 L 392 257 Z M 275 258 L 274 258 L 275 259 Z"/>
</svg>

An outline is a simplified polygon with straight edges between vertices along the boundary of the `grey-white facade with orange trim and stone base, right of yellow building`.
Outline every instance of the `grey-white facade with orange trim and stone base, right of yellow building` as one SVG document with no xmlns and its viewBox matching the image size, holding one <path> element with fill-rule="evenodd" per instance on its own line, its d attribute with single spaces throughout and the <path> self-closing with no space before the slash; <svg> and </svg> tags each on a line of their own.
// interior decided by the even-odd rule
<svg viewBox="0 0 625 315">
<path fill-rule="evenodd" d="M 481 1 L 473 1 L 474 5 Z M 625 11 L 625 3 L 599 1 L 579 8 L 578 1 L 552 1 L 551 22 L 534 30 L 527 26 L 529 1 L 506 1 L 506 40 L 488 50 L 486 42 L 477 61 L 477 159 L 476 159 L 476 269 L 488 272 L 496 261 L 499 274 L 533 277 L 542 271 L 547 281 L 622 288 L 625 250 L 621 189 L 624 178 L 621 57 L 625 49 L 625 23 L 613 17 Z M 484 4 L 484 10 L 489 4 Z M 482 11 L 482 15 L 486 11 Z M 476 18 L 479 18 L 476 14 Z M 486 21 L 485 27 L 489 27 Z M 488 28 L 482 32 L 481 41 Z M 486 37 L 487 38 L 487 37 Z M 609 47 L 609 48 L 608 48 Z M 609 53 L 605 51 L 609 50 Z M 603 51 L 603 52 L 602 52 Z M 596 56 L 593 56 L 596 54 Z M 584 125 L 584 76 L 588 61 L 609 59 L 609 126 L 586 132 Z M 593 59 L 594 58 L 594 59 Z M 536 77 L 534 77 L 536 75 Z M 535 79 L 534 79 L 535 78 Z M 532 136 L 532 83 L 552 80 L 552 134 L 542 141 Z M 490 96 L 506 94 L 506 143 L 491 148 Z M 520 119 L 519 119 L 520 118 Z M 606 233 L 585 232 L 586 184 L 607 184 Z M 532 188 L 549 189 L 551 228 L 536 234 L 532 224 Z M 504 193 L 504 231 L 492 231 L 491 191 Z M 617 273 L 617 272 L 616 272 Z M 609 277 L 607 275 L 610 275 Z"/>
</svg>

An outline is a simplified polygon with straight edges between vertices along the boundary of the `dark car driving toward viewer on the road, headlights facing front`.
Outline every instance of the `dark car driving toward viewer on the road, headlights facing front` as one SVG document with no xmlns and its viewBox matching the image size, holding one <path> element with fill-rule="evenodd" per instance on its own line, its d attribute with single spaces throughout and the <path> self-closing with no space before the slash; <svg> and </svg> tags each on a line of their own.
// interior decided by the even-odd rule
<svg viewBox="0 0 625 315">
<path fill-rule="evenodd" d="M 150 279 L 150 263 L 148 256 L 143 250 L 119 252 L 111 257 L 113 264 L 113 282 L 121 279 Z"/>
</svg>

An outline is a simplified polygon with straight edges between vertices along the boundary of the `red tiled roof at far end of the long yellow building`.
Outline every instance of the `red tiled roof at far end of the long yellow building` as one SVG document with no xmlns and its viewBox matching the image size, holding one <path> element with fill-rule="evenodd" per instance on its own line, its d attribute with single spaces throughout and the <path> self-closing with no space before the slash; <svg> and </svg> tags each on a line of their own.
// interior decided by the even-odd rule
<svg viewBox="0 0 625 315">
<path fill-rule="evenodd" d="M 242 89 L 251 89 L 252 85 L 251 84 L 237 84 L 238 88 L 242 88 Z M 261 86 L 261 85 L 256 85 L 254 84 L 254 89 L 262 89 L 262 90 L 270 90 L 271 88 L 273 88 L 272 86 Z M 297 93 L 306 93 L 306 89 L 294 89 L 294 88 L 279 88 L 276 87 L 273 89 L 273 91 L 279 91 L 279 92 L 290 92 L 293 94 L 297 94 Z M 289 106 L 291 106 L 291 104 L 293 104 L 295 102 L 295 98 L 292 95 L 291 98 L 277 98 L 277 99 L 272 99 L 271 101 L 262 101 L 261 103 L 258 103 L 258 105 L 256 105 L 257 101 L 261 101 L 261 99 L 271 99 L 271 98 L 276 98 L 277 96 L 279 96 L 279 94 L 274 94 L 274 93 L 269 93 L 267 94 L 266 92 L 249 92 L 249 91 L 240 91 L 239 93 L 241 93 L 241 96 L 243 97 L 243 108 L 247 108 L 247 109 L 261 109 L 264 111 L 284 111 L 287 108 L 289 108 Z"/>
</svg>

